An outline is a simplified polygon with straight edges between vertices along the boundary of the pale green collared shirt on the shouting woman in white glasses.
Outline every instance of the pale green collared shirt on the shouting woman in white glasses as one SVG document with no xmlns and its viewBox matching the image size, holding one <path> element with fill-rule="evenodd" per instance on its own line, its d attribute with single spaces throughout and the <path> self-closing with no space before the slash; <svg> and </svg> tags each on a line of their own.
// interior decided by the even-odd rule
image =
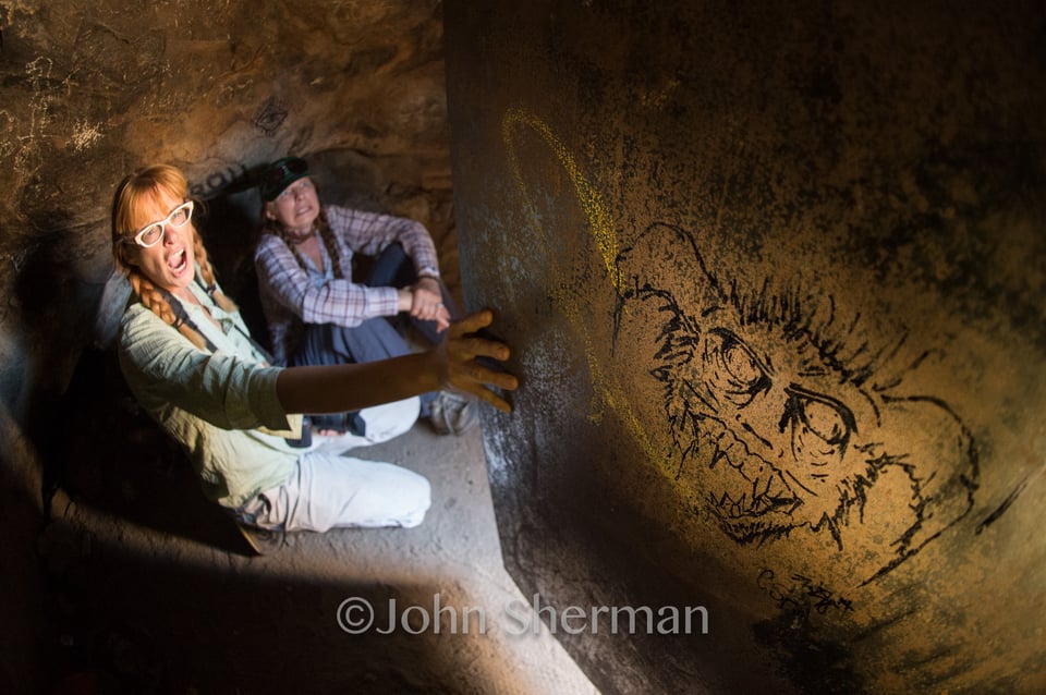
<svg viewBox="0 0 1046 695">
<path fill-rule="evenodd" d="M 177 302 L 214 345 L 205 351 L 132 300 L 120 321 L 120 367 L 138 403 L 187 451 L 204 492 L 239 508 L 262 490 L 290 477 L 299 450 L 292 436 L 296 416 L 288 416 L 276 394 L 279 367 L 268 366 L 250 339 L 239 313 L 221 310 L 210 296 L 190 285 L 203 307 Z"/>
</svg>

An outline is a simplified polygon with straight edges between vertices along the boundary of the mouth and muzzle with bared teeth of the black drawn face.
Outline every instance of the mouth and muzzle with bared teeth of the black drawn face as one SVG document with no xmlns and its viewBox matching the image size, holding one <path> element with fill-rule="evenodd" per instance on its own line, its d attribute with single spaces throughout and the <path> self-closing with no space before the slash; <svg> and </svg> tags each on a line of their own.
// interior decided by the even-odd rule
<svg viewBox="0 0 1046 695">
<path fill-rule="evenodd" d="M 707 430 L 709 422 L 704 424 Z M 715 447 L 708 464 L 713 473 L 708 502 L 720 520 L 732 524 L 766 514 L 790 514 L 802 504 L 784 477 L 752 454 L 730 430 L 722 427 L 718 435 L 706 431 L 706 436 Z"/>
</svg>

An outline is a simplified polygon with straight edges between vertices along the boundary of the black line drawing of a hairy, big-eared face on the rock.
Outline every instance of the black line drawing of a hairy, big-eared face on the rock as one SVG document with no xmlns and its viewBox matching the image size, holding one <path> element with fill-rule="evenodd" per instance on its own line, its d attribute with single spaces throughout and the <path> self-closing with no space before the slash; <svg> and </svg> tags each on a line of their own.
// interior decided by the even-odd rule
<svg viewBox="0 0 1046 695">
<path fill-rule="evenodd" d="M 973 439 L 947 403 L 904 392 L 905 369 L 888 367 L 903 339 L 872 351 L 830 296 L 725 279 L 678 227 L 652 224 L 617 264 L 616 349 L 630 316 L 656 317 L 638 340 L 653 341 L 677 480 L 729 538 L 824 533 L 844 551 L 851 531 L 885 536 L 866 584 L 970 512 Z M 866 516 L 869 501 L 889 514 Z"/>
</svg>

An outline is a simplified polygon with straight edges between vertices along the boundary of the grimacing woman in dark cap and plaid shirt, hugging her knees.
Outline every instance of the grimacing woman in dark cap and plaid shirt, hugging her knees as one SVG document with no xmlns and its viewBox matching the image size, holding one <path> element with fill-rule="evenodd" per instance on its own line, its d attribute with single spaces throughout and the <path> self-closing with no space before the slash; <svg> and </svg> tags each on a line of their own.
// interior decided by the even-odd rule
<svg viewBox="0 0 1046 695">
<path fill-rule="evenodd" d="M 263 229 L 255 266 L 280 364 L 366 363 L 408 354 L 406 341 L 387 320 L 401 312 L 429 343 L 439 342 L 452 304 L 423 224 L 320 205 L 308 166 L 297 157 L 266 167 L 259 188 Z M 377 259 L 364 282 L 353 281 L 354 254 Z M 470 402 L 449 391 L 423 394 L 421 414 L 440 434 L 460 434 L 477 419 Z M 354 413 L 309 420 L 319 434 L 363 434 L 369 427 Z"/>
</svg>

